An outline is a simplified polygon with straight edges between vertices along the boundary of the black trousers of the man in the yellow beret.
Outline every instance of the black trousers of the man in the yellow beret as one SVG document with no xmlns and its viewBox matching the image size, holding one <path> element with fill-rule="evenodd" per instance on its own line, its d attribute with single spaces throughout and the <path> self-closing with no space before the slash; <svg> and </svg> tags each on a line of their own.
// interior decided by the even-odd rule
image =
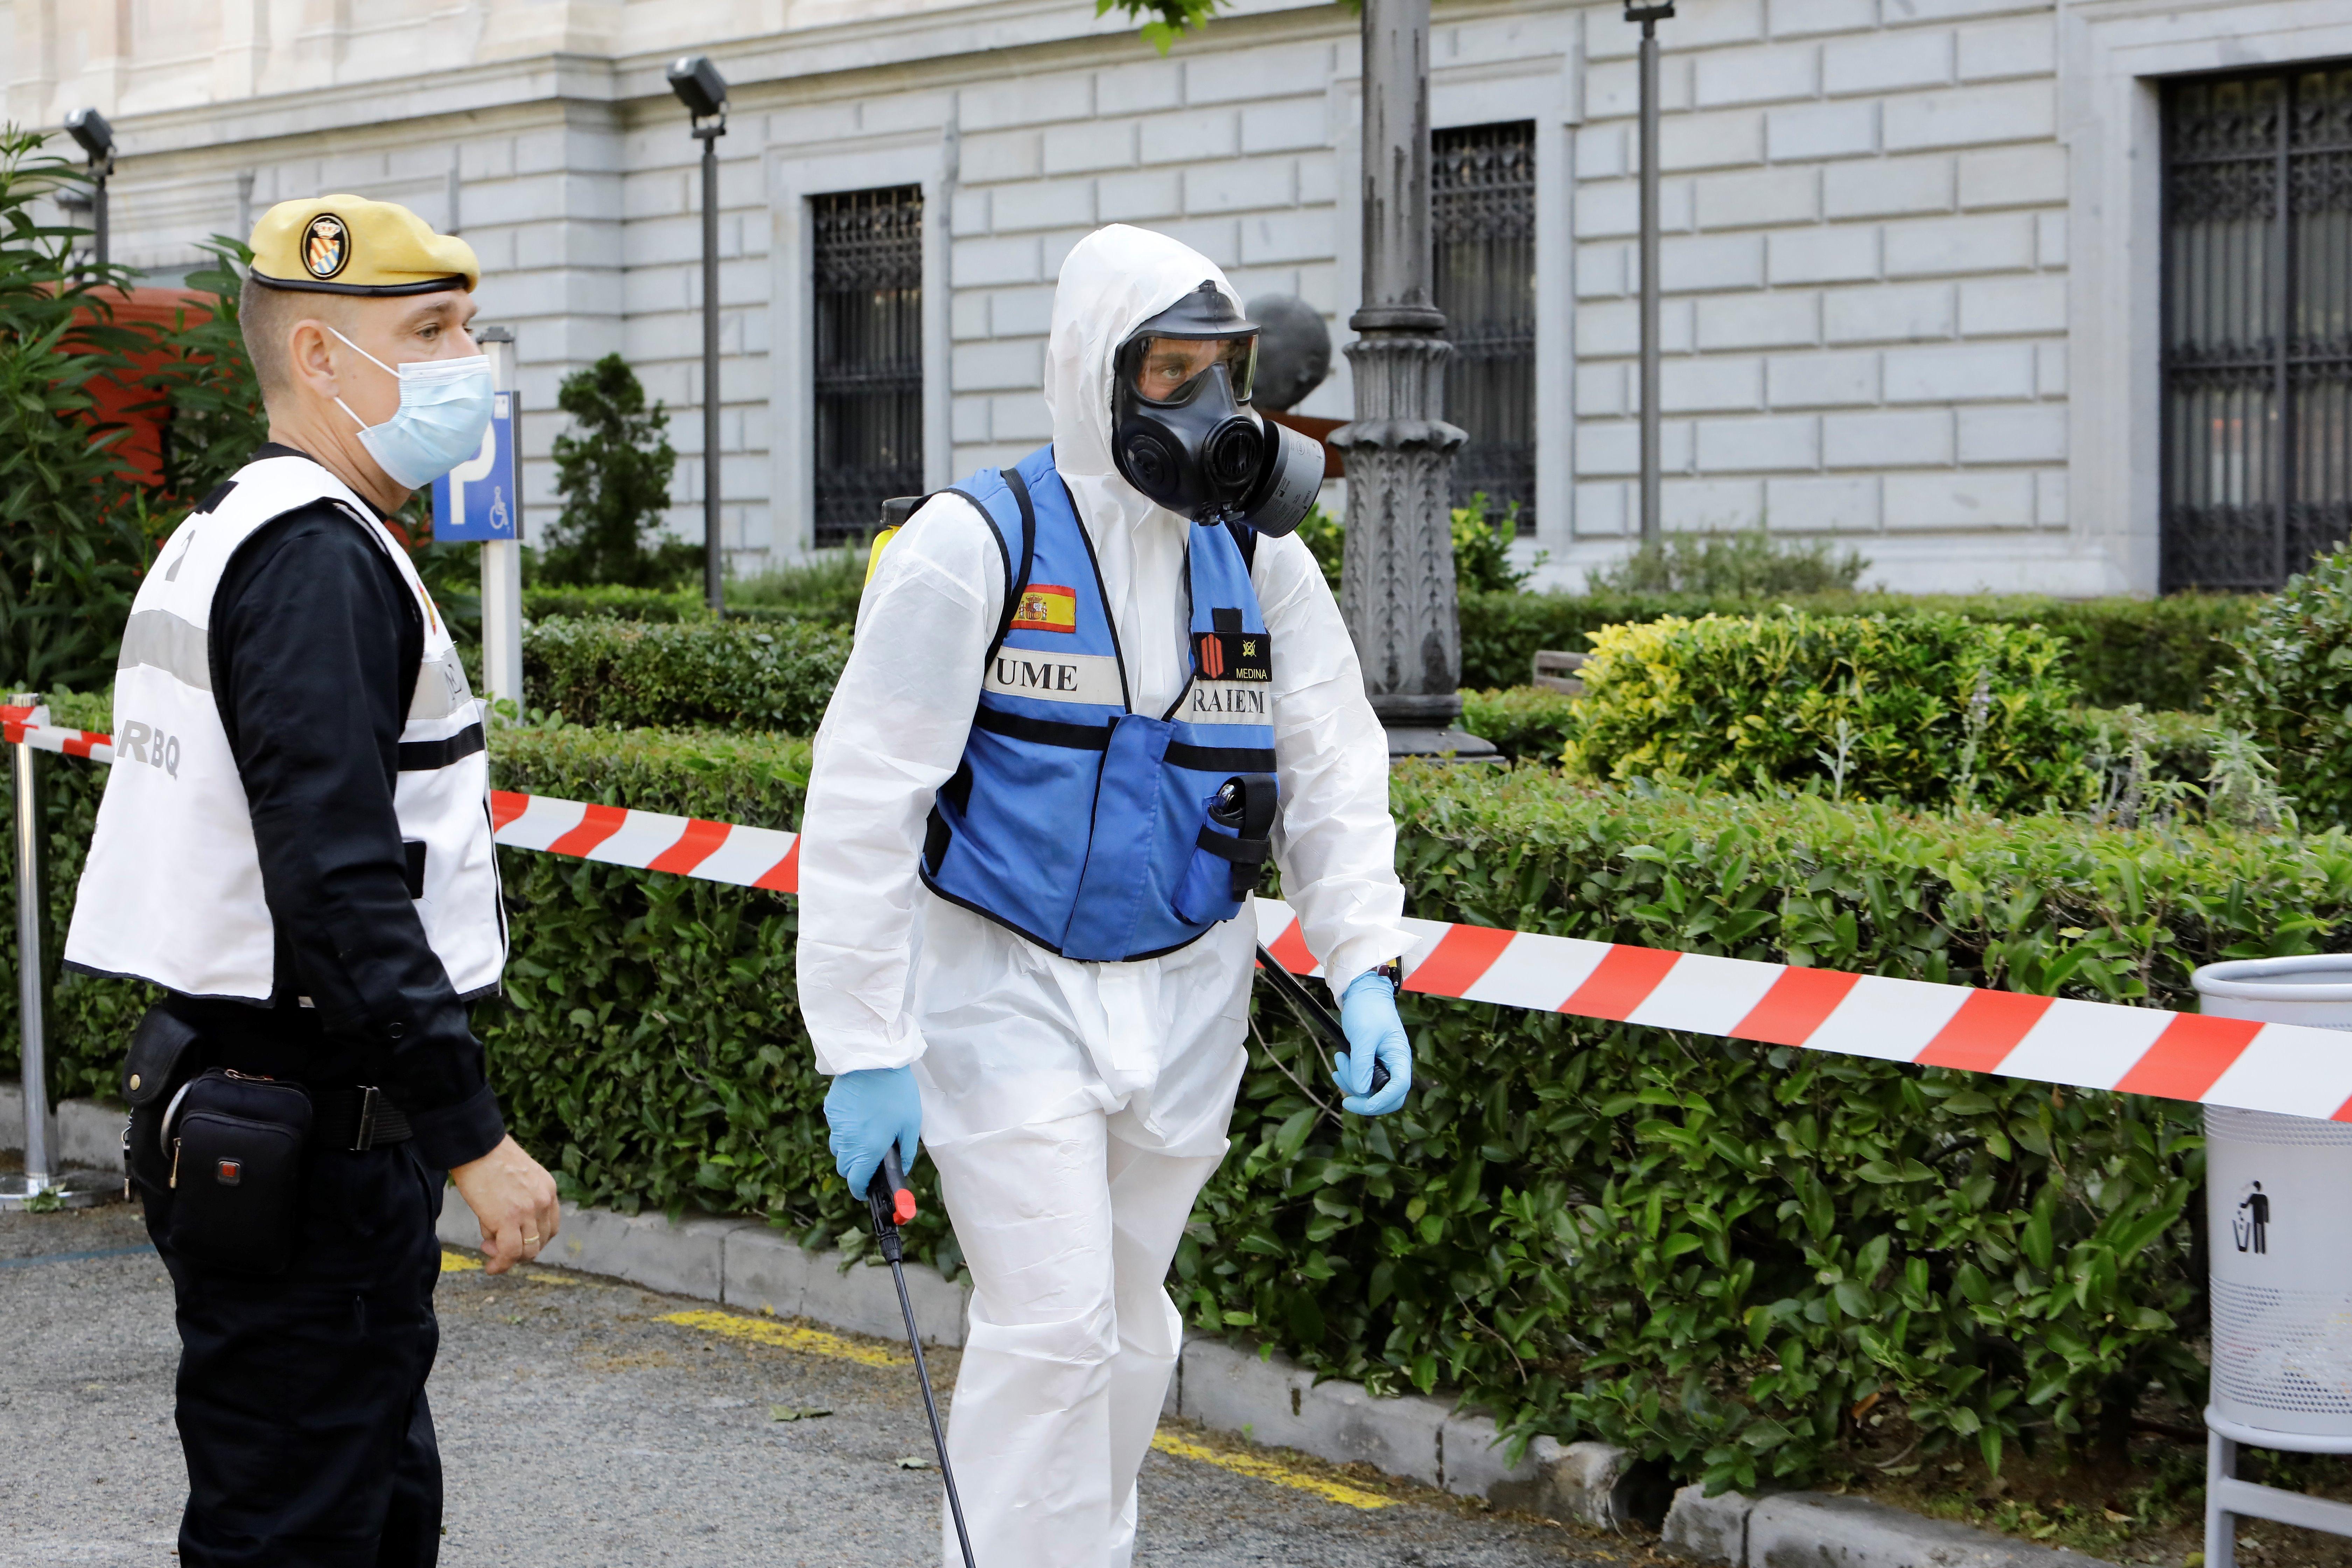
<svg viewBox="0 0 2352 1568">
<path fill-rule="evenodd" d="M 440 1347 L 442 1173 L 409 1145 L 303 1157 L 285 1274 L 202 1267 L 148 1234 L 179 1319 L 183 1568 L 433 1568 L 442 1483 L 426 1375 Z"/>
</svg>

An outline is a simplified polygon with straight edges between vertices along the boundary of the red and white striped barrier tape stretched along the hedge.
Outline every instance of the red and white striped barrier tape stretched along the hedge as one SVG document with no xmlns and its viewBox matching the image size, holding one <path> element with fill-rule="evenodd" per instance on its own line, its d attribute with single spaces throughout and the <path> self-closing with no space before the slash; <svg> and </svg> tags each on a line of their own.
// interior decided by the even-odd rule
<svg viewBox="0 0 2352 1568">
<path fill-rule="evenodd" d="M 26 724 L 0 708 L 5 738 L 111 762 L 106 736 Z M 774 893 L 800 891 L 800 835 L 492 790 L 499 844 L 604 865 L 677 872 Z M 1258 940 L 1284 969 L 1317 976 L 1298 917 L 1256 900 Z M 1461 1001 L 1689 1030 L 2039 1084 L 2114 1088 L 2352 1121 L 2352 1034 L 2112 1001 L 1853 976 L 1588 943 L 1534 931 L 1406 919 L 1404 990 Z"/>
</svg>

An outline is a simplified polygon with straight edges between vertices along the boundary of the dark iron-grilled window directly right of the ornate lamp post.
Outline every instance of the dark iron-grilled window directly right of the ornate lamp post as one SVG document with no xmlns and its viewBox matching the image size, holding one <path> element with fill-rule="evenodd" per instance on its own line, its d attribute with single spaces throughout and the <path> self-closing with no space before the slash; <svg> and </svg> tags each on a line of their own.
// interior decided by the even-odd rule
<svg viewBox="0 0 2352 1568">
<path fill-rule="evenodd" d="M 1501 522 L 1519 503 L 1536 531 L 1536 125 L 1437 132 L 1430 230 L 1437 308 L 1446 313 L 1446 423 L 1470 433 L 1454 454 L 1454 505 L 1486 491 Z"/>
</svg>

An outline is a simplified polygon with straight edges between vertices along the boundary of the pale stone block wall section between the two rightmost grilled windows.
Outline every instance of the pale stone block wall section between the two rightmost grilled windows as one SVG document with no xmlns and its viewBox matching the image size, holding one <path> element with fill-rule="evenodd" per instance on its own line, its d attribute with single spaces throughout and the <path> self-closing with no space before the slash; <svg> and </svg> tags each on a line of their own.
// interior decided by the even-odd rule
<svg viewBox="0 0 2352 1568">
<path fill-rule="evenodd" d="M 2053 7 L 1696 0 L 1661 38 L 1665 527 L 2027 585 L 2002 541 L 2067 522 Z M 1585 14 L 1578 555 L 1637 517 L 1635 40 Z"/>
</svg>

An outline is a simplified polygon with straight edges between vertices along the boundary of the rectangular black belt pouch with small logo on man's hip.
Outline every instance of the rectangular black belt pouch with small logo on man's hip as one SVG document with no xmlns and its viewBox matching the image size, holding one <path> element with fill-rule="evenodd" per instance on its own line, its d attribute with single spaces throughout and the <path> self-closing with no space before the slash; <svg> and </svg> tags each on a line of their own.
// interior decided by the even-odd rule
<svg viewBox="0 0 2352 1568">
<path fill-rule="evenodd" d="M 301 1215 L 310 1095 L 296 1084 L 212 1067 L 179 1095 L 172 1150 L 172 1251 L 214 1269 L 282 1274 Z"/>
</svg>

